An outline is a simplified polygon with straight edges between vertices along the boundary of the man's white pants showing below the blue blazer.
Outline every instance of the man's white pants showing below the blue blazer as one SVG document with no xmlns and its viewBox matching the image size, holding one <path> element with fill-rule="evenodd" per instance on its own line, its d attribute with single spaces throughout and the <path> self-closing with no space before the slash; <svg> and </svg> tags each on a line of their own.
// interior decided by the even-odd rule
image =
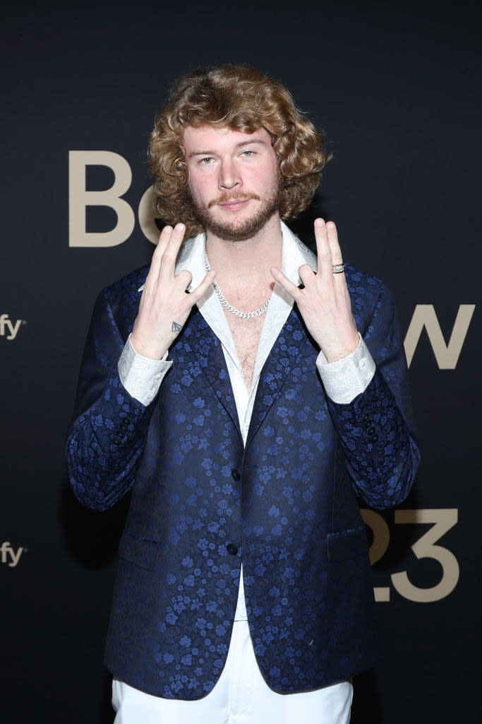
<svg viewBox="0 0 482 724">
<path fill-rule="evenodd" d="M 114 724 L 348 724 L 350 681 L 299 694 L 277 694 L 265 683 L 246 620 L 234 622 L 228 657 L 214 689 L 186 702 L 145 694 L 114 679 Z"/>
</svg>

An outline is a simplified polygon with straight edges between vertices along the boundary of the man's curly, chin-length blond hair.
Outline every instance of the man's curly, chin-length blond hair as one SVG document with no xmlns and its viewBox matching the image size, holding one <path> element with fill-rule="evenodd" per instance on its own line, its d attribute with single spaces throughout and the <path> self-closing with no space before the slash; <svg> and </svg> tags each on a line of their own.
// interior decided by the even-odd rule
<svg viewBox="0 0 482 724">
<path fill-rule="evenodd" d="M 228 64 L 179 78 L 158 111 L 147 167 L 160 219 L 167 224 L 184 222 L 186 237 L 204 231 L 191 202 L 182 145 L 186 126 L 202 125 L 246 133 L 267 130 L 280 169 L 280 216 L 294 218 L 309 206 L 320 172 L 330 160 L 323 151 L 324 137 L 281 83 L 255 68 Z"/>
</svg>

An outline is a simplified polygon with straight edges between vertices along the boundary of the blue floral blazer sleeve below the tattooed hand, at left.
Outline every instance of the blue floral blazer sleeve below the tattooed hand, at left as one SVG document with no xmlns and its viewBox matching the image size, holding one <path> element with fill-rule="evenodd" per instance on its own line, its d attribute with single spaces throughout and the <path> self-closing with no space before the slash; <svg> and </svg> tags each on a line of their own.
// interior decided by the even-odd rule
<svg viewBox="0 0 482 724">
<path fill-rule="evenodd" d="M 153 403 L 142 405 L 119 379 L 121 334 L 106 291 L 95 303 L 66 441 L 69 480 L 76 497 L 95 510 L 114 505 L 134 484 Z"/>
</svg>

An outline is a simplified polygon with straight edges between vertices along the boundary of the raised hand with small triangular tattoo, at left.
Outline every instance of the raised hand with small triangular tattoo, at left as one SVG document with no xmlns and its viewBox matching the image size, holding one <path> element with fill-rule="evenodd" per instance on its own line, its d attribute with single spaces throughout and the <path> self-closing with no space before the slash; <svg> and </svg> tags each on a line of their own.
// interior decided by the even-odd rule
<svg viewBox="0 0 482 724">
<path fill-rule="evenodd" d="M 183 269 L 176 277 L 174 269 L 186 227 L 166 226 L 152 254 L 149 274 L 139 302 L 131 342 L 139 355 L 161 359 L 181 331 L 194 304 L 205 294 L 216 276 L 208 271 L 199 287 L 190 294 L 192 274 Z"/>
</svg>

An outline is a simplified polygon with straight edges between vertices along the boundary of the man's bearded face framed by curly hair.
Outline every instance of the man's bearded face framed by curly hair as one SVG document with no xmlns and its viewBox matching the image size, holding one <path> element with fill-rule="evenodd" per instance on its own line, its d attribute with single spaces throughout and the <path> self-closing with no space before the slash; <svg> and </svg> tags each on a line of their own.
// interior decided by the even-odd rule
<svg viewBox="0 0 482 724">
<path fill-rule="evenodd" d="M 277 158 L 264 128 L 186 127 L 183 138 L 189 190 L 199 221 L 221 239 L 241 241 L 277 212 Z"/>
</svg>

